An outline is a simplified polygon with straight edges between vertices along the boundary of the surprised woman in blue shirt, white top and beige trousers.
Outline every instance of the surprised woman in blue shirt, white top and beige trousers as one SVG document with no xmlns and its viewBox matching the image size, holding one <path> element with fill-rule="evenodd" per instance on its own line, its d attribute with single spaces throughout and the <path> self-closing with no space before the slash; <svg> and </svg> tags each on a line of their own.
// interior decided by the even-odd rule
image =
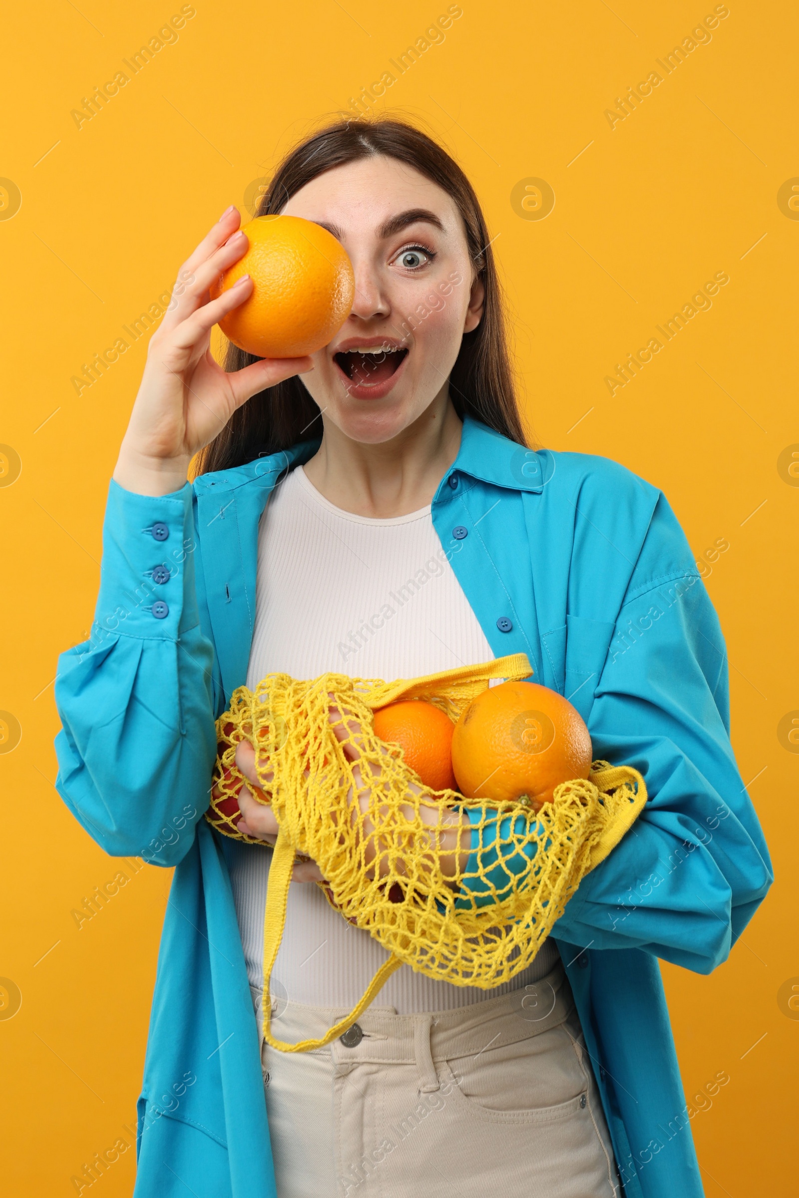
<svg viewBox="0 0 799 1198">
<path fill-rule="evenodd" d="M 224 373 L 211 328 L 252 283 L 210 300 L 247 246 L 235 208 L 211 229 L 151 339 L 92 636 L 56 683 L 65 801 L 107 852 L 176 866 L 137 1194 L 266 1198 L 277 1178 L 280 1198 L 698 1196 L 656 958 L 709 973 L 771 875 L 685 537 L 622 466 L 527 448 L 491 238 L 429 138 L 331 126 L 279 167 L 270 212 L 343 242 L 352 313 L 309 358 L 231 347 Z M 389 679 L 514 652 L 577 707 L 595 757 L 642 772 L 647 807 L 509 985 L 402 967 L 343 1042 L 261 1043 L 259 1071 L 271 854 L 202 818 L 214 718 L 274 671 Z M 254 782 L 252 752 L 238 761 Z M 270 810 L 240 803 L 273 837 Z M 316 878 L 297 866 L 271 980 L 292 1042 L 385 960 Z"/>
</svg>

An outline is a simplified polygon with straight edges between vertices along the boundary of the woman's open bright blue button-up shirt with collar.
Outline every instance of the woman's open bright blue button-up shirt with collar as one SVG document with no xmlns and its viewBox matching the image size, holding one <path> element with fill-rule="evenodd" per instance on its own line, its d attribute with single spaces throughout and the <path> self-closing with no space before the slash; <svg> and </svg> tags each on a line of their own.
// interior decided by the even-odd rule
<svg viewBox="0 0 799 1198">
<path fill-rule="evenodd" d="M 276 1194 L 230 879 L 202 812 L 214 718 L 247 676 L 259 519 L 316 447 L 157 498 L 111 483 L 91 639 L 59 661 L 65 803 L 105 852 L 176 866 L 137 1198 Z M 700 1198 L 656 958 L 710 973 L 771 883 L 730 744 L 716 613 L 662 492 L 605 458 L 525 449 L 467 418 L 432 520 L 494 653 L 526 653 L 586 720 L 594 757 L 647 781 L 646 809 L 553 936 L 628 1198 Z"/>
</svg>

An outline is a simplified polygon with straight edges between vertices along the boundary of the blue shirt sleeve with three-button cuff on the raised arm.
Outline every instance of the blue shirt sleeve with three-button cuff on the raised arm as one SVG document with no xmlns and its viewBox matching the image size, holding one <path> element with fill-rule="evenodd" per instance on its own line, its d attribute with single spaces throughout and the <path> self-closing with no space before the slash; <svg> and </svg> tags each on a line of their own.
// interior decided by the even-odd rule
<svg viewBox="0 0 799 1198">
<path fill-rule="evenodd" d="M 56 788 L 111 855 L 177 864 L 210 801 L 214 653 L 200 629 L 193 490 L 111 482 L 91 636 L 59 658 Z"/>
</svg>

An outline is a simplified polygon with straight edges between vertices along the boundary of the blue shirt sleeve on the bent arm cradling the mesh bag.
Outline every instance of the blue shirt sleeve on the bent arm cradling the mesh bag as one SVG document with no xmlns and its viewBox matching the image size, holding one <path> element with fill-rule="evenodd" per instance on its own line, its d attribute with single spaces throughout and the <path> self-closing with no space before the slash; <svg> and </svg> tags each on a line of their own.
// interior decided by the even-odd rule
<svg viewBox="0 0 799 1198">
<path fill-rule="evenodd" d="M 673 561 L 674 545 L 683 565 L 664 576 L 659 567 L 666 557 Z M 634 766 L 648 801 L 582 879 L 553 936 L 583 949 L 643 949 L 697 973 L 710 973 L 727 957 L 773 882 L 730 742 L 728 713 L 719 618 L 661 495 L 588 718 L 594 758 Z M 500 828 L 497 843 L 503 839 L 516 841 Z M 507 888 L 508 873 L 523 867 L 519 849 L 506 864 L 494 843 L 476 842 L 473 827 L 470 871 L 484 849 L 489 881 Z"/>
</svg>

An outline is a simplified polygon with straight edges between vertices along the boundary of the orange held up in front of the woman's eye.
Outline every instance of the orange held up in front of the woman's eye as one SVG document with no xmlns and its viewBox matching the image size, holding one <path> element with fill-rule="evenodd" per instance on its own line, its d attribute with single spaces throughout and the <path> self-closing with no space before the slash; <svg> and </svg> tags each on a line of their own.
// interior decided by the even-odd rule
<svg viewBox="0 0 799 1198">
<path fill-rule="evenodd" d="M 234 345 L 260 358 L 296 358 L 327 345 L 350 315 L 355 274 L 344 246 L 302 217 L 256 217 L 242 232 L 249 249 L 211 285 L 216 300 L 242 274 L 244 303 L 219 321 Z"/>
</svg>

